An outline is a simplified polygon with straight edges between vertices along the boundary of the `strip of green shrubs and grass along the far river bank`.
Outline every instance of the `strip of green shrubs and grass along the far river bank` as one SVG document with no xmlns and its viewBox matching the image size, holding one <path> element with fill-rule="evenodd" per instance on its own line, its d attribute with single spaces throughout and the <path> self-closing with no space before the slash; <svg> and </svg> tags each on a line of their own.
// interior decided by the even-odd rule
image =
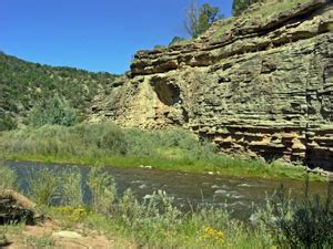
<svg viewBox="0 0 333 249">
<path fill-rule="evenodd" d="M 47 125 L 0 135 L 6 159 L 138 167 L 244 177 L 301 178 L 304 168 L 220 155 L 208 141 L 183 129 L 122 129 L 110 123 Z M 312 179 L 321 179 L 312 176 Z"/>
</svg>

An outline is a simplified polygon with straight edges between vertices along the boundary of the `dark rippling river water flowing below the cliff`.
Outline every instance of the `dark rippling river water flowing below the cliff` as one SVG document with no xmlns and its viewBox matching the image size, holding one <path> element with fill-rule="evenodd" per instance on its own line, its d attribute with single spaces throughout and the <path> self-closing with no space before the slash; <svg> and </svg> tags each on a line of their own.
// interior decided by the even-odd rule
<svg viewBox="0 0 333 249">
<path fill-rule="evenodd" d="M 23 180 L 27 173 L 41 167 L 61 168 L 70 165 L 7 162 L 14 169 L 19 180 Z M 89 167 L 80 167 L 83 181 L 87 181 Z M 198 207 L 201 205 L 221 206 L 228 208 L 232 216 L 246 220 L 255 210 L 255 207 L 264 207 L 266 197 L 272 196 L 281 184 L 293 196 L 300 197 L 304 184 L 297 180 L 276 180 L 263 178 L 224 177 L 221 175 L 189 174 L 165 172 L 148 168 L 117 168 L 105 169 L 117 183 L 119 194 L 131 188 L 139 199 L 149 198 L 158 189 L 165 190 L 175 199 L 175 204 L 183 208 Z M 311 193 L 323 195 L 326 185 L 311 183 Z M 88 194 L 87 194 L 88 193 Z M 85 200 L 89 191 L 85 191 Z"/>
</svg>

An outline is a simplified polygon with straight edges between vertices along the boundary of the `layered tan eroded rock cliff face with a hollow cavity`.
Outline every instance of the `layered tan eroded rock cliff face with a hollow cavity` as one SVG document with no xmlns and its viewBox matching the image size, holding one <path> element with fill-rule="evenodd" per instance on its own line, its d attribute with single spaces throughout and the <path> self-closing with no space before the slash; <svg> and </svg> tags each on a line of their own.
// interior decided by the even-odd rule
<svg viewBox="0 0 333 249">
<path fill-rule="evenodd" d="M 190 43 L 140 51 L 92 117 L 183 126 L 225 153 L 332 170 L 332 25 L 331 1 L 316 0 L 261 20 L 215 23 Z"/>
</svg>

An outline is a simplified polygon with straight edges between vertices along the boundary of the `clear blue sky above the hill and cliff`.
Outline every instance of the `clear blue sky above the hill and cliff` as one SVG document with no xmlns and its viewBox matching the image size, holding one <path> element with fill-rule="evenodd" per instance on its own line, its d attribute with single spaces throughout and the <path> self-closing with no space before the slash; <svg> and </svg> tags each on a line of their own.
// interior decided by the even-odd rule
<svg viewBox="0 0 333 249">
<path fill-rule="evenodd" d="M 0 50 L 50 65 L 123 73 L 135 51 L 185 37 L 190 0 L 0 0 Z M 199 0 L 231 15 L 232 0 Z"/>
</svg>

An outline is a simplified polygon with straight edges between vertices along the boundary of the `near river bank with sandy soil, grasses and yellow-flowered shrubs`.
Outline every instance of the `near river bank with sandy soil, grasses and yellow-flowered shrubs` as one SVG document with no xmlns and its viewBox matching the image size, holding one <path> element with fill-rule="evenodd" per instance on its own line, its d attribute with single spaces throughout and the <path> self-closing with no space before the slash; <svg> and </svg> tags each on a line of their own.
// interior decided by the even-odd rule
<svg viewBox="0 0 333 249">
<path fill-rule="evenodd" d="M 1 189 L 3 186 L 16 187 L 19 175 L 1 166 L 0 177 L 3 179 Z M 333 214 L 331 187 L 324 203 L 312 199 L 309 188 L 304 189 L 304 201 L 296 203 L 283 189 L 276 189 L 278 195 L 268 199 L 264 208 L 253 205 L 258 208 L 253 209 L 255 216 L 250 226 L 233 218 L 228 208 L 221 206 L 206 205 L 182 211 L 175 205 L 175 198 L 162 189 L 143 200 L 137 198 L 131 189 L 118 195 L 119 186 L 114 178 L 97 167 L 89 168 L 85 177 L 92 199 L 89 205 L 83 205 L 83 178 L 78 167 L 62 167 L 61 170 L 40 167 L 33 170 L 32 176 L 26 178 L 28 197 L 53 225 L 50 227 L 48 222 L 41 222 L 41 229 L 32 228 L 36 232 L 43 230 L 43 234 L 37 235 L 29 234 L 31 228 L 24 224 L 13 224 L 0 226 L 0 234 L 18 240 L 21 248 L 24 248 L 22 245 L 28 248 L 57 248 L 63 245 L 63 240 L 54 237 L 60 232 L 77 236 L 71 240 L 73 243 L 101 239 L 111 248 L 113 245 L 118 245 L 114 248 L 159 248 L 161 245 L 164 248 L 287 248 L 294 243 L 330 248 L 333 238 L 330 228 Z M 54 198 L 59 205 L 53 205 Z M 290 229 L 310 227 L 311 230 L 302 229 L 297 234 L 292 230 L 290 234 Z M 305 241 L 303 236 L 311 239 Z"/>
</svg>

